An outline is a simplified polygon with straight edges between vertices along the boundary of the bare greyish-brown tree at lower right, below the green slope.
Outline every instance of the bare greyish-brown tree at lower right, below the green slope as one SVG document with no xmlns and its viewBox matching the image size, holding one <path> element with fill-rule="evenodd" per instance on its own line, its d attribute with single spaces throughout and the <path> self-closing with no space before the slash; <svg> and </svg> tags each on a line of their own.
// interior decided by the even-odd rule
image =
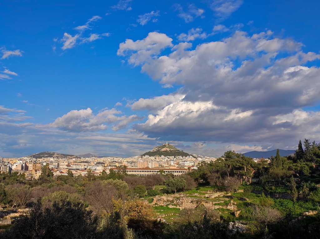
<svg viewBox="0 0 320 239">
<path fill-rule="evenodd" d="M 263 239 L 267 232 L 267 227 L 270 224 L 275 224 L 282 219 L 282 215 L 276 209 L 270 207 L 262 207 L 260 205 L 253 205 L 252 213 L 249 214 L 252 225 L 258 230 L 261 239 Z"/>
</svg>

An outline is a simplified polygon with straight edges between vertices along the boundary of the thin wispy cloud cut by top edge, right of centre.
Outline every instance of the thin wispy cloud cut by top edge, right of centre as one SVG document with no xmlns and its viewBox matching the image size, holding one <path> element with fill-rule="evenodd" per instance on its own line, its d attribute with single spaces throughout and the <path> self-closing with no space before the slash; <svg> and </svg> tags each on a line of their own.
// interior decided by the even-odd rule
<svg viewBox="0 0 320 239">
<path fill-rule="evenodd" d="M 210 8 L 218 18 L 224 20 L 236 12 L 242 4 L 243 0 L 213 0 Z"/>
</svg>

